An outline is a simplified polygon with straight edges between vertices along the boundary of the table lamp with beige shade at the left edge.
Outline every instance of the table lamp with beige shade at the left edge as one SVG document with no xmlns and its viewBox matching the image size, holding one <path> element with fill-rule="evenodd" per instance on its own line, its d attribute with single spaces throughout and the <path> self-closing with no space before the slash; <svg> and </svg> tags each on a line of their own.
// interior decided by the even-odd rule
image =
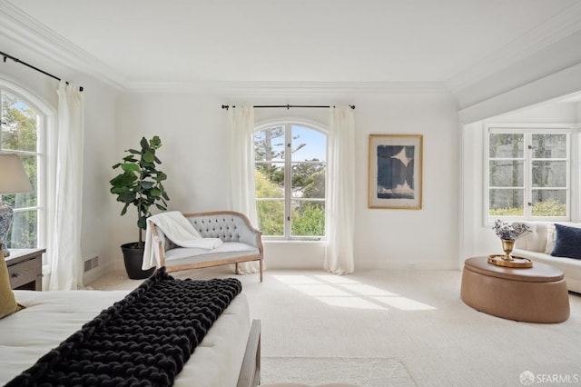
<svg viewBox="0 0 581 387">
<path fill-rule="evenodd" d="M 3 193 L 27 193 L 32 190 L 30 181 L 25 173 L 25 166 L 16 154 L 0 154 L 0 194 Z M 6 248 L 6 237 L 14 212 L 4 202 L 0 202 L 0 243 L 2 253 L 10 255 Z"/>
</svg>

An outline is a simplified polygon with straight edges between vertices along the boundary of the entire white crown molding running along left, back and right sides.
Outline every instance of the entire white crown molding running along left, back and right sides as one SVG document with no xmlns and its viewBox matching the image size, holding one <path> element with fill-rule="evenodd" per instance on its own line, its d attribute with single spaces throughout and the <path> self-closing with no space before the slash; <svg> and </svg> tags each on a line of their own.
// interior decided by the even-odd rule
<svg viewBox="0 0 581 387">
<path fill-rule="evenodd" d="M 581 30 L 581 3 L 554 16 L 543 25 L 505 45 L 447 82 L 136 82 L 105 65 L 52 29 L 0 0 L 0 35 L 59 65 L 89 74 L 128 93 L 220 94 L 412 94 L 456 93 L 470 84 L 517 63 L 535 52 Z"/>
</svg>

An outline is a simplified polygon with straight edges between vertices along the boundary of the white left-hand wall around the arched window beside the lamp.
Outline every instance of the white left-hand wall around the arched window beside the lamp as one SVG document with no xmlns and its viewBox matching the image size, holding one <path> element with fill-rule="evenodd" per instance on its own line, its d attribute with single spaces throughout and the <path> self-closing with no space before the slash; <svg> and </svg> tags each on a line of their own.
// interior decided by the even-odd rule
<svg viewBox="0 0 581 387">
<path fill-rule="evenodd" d="M 25 47 L 17 46 L 16 51 L 5 48 L 3 50 L 31 65 L 36 65 L 51 74 L 84 87 L 84 205 L 81 249 L 84 260 L 99 256 L 102 269 L 98 273 L 97 271 L 87 273 L 89 277 L 85 277 L 85 282 L 89 282 L 92 279 L 91 275 L 100 275 L 113 268 L 110 242 L 113 233 L 111 224 L 114 222 L 113 203 L 108 180 L 115 142 L 114 104 L 117 92 L 90 76 L 55 64 L 44 56 L 36 55 L 33 51 L 27 51 Z M 0 63 L 0 76 L 21 85 L 37 98 L 51 105 L 56 113 L 58 81 L 11 60 Z M 47 235 L 47 240 L 51 239 L 52 235 Z M 44 273 L 47 274 L 46 271 Z M 48 278 L 48 275 L 44 276 L 44 284 Z"/>
</svg>

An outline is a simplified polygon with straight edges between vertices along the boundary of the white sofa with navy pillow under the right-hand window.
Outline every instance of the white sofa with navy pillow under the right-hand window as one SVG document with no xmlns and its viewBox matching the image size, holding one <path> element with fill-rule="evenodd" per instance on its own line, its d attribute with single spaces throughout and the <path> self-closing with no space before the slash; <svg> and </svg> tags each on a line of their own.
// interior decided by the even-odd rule
<svg viewBox="0 0 581 387">
<path fill-rule="evenodd" d="M 571 292 L 581 293 L 581 259 L 556 257 L 551 255 L 555 247 L 555 224 L 547 222 L 514 222 L 530 227 L 531 232 L 517 239 L 513 255 L 528 258 L 558 267 L 565 274 L 566 287 Z M 581 227 L 581 223 L 562 223 Z"/>
</svg>

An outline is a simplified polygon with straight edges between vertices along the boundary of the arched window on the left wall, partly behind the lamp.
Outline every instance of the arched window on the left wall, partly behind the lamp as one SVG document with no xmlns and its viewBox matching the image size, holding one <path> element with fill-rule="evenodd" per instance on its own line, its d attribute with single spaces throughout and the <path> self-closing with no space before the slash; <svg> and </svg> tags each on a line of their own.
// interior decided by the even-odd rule
<svg viewBox="0 0 581 387">
<path fill-rule="evenodd" d="M 30 179 L 30 193 L 3 194 L 1 200 L 15 217 L 6 245 L 11 249 L 35 248 L 44 243 L 44 117 L 17 91 L 0 84 L 0 152 L 18 154 Z"/>
</svg>

